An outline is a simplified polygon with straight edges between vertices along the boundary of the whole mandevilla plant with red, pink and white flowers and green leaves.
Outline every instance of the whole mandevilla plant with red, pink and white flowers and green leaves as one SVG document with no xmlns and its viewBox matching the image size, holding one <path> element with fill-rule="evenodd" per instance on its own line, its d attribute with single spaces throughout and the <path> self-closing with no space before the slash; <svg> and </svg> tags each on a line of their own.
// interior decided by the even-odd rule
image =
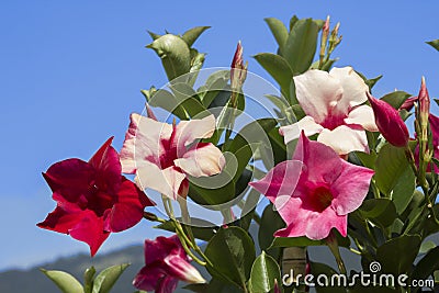
<svg viewBox="0 0 439 293">
<path fill-rule="evenodd" d="M 120 153 L 109 138 L 89 161 L 43 173 L 57 205 L 38 227 L 86 243 L 93 257 L 110 233 L 156 222 L 172 236 L 145 240 L 140 291 L 173 292 L 179 281 L 193 292 L 437 290 L 439 247 L 426 238 L 439 232 L 439 117 L 425 79 L 417 97 L 373 98 L 380 77 L 334 67 L 339 24 L 266 22 L 278 50 L 254 58 L 275 93 L 248 71 L 240 43 L 229 68 L 202 69 L 193 44 L 209 26 L 149 33 L 169 83 L 142 91 L 146 111 L 131 115 Z M 309 246 L 327 246 L 338 268 L 311 261 Z M 65 293 L 103 293 L 126 266 L 95 278 L 90 268 L 83 284 L 44 273 Z"/>
</svg>

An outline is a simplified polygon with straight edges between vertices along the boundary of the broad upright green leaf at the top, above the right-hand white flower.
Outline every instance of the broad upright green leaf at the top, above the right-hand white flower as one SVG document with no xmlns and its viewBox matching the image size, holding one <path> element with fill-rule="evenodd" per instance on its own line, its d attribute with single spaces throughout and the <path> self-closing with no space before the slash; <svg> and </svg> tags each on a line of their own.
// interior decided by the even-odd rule
<svg viewBox="0 0 439 293">
<path fill-rule="evenodd" d="M 318 24 L 312 19 L 299 20 L 294 24 L 283 53 L 294 75 L 305 72 L 313 64 L 317 36 Z"/>
</svg>

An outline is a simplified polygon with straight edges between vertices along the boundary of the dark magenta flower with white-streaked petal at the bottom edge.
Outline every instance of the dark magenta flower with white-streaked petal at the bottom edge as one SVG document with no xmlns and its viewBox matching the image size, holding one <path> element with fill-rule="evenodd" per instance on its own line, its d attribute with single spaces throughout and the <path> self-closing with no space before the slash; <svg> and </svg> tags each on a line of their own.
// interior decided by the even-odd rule
<svg viewBox="0 0 439 293">
<path fill-rule="evenodd" d="M 189 283 L 205 283 L 200 272 L 189 262 L 177 235 L 155 240 L 145 240 L 145 267 L 137 273 L 133 285 L 156 293 L 171 293 L 179 280 Z"/>
</svg>

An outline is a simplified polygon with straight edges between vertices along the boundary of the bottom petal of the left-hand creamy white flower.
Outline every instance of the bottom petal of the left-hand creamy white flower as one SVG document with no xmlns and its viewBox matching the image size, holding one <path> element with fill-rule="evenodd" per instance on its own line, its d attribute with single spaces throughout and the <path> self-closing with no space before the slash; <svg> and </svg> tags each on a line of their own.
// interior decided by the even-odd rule
<svg viewBox="0 0 439 293">
<path fill-rule="evenodd" d="M 154 189 L 172 200 L 177 199 L 180 185 L 185 179 L 185 174 L 176 166 L 161 170 L 149 161 L 145 161 L 136 174 L 136 182 L 140 189 Z"/>
</svg>

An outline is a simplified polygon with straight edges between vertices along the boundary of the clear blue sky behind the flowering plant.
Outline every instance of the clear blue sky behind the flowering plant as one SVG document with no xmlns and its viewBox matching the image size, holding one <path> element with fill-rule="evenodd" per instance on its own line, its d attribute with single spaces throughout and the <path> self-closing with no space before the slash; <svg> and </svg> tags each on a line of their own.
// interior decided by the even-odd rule
<svg viewBox="0 0 439 293">
<path fill-rule="evenodd" d="M 249 4 L 250 3 L 250 4 Z M 250 58 L 274 52 L 263 18 L 341 22 L 334 56 L 367 77 L 383 74 L 374 94 L 395 88 L 417 93 L 425 76 L 439 94 L 439 3 L 427 1 L 2 1 L 0 4 L 0 270 L 27 267 L 88 247 L 35 227 L 54 202 L 41 172 L 69 157 L 88 159 L 114 135 L 119 149 L 131 112 L 143 109 L 140 89 L 166 76 L 146 31 L 182 33 L 212 25 L 195 44 L 205 67 L 228 66 L 240 40 L 249 70 L 268 75 Z M 437 108 L 434 109 L 437 113 Z M 102 251 L 155 237 L 143 222 L 113 234 Z"/>
</svg>

